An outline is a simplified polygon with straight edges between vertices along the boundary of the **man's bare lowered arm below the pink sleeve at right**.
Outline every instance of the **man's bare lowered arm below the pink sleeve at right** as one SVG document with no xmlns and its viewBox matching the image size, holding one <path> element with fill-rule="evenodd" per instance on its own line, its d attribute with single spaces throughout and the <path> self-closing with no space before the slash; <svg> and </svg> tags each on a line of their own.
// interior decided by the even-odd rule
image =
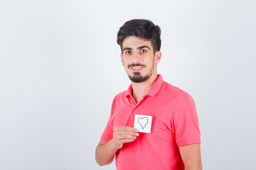
<svg viewBox="0 0 256 170">
<path fill-rule="evenodd" d="M 180 155 L 185 170 L 202 170 L 200 144 L 188 144 L 180 147 Z"/>
</svg>

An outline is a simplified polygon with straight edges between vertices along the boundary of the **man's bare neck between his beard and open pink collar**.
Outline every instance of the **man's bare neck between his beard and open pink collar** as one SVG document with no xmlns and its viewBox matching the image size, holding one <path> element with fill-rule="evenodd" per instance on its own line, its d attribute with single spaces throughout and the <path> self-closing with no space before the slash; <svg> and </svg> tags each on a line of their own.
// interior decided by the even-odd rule
<svg viewBox="0 0 256 170">
<path fill-rule="evenodd" d="M 149 79 L 147 79 L 145 82 L 141 83 L 135 83 L 131 82 L 132 84 L 132 97 L 135 99 L 136 103 L 139 102 L 139 100 L 148 93 L 151 86 L 155 83 L 157 80 L 158 75 L 153 74 Z"/>
</svg>

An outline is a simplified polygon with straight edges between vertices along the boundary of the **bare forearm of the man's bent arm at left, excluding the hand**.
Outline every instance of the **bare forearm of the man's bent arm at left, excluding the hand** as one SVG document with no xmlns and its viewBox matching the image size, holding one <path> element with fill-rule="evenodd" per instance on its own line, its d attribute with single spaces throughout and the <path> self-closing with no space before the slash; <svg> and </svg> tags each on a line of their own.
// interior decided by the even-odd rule
<svg viewBox="0 0 256 170">
<path fill-rule="evenodd" d="M 108 165 L 110 164 L 117 152 L 117 148 L 113 147 L 113 139 L 110 139 L 105 144 L 99 144 L 95 151 L 95 160 L 100 165 Z"/>
</svg>

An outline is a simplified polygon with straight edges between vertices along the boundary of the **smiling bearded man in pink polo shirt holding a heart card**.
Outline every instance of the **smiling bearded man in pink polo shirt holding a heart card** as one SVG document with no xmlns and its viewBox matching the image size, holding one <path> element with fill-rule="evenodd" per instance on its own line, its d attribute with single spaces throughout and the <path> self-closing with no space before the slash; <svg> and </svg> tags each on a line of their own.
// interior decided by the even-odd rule
<svg viewBox="0 0 256 170">
<path fill-rule="evenodd" d="M 193 99 L 157 74 L 160 34 L 159 26 L 149 20 L 127 21 L 117 33 L 131 85 L 113 100 L 96 148 L 100 166 L 116 157 L 117 170 L 202 169 Z M 137 124 L 141 127 L 134 128 Z"/>
</svg>

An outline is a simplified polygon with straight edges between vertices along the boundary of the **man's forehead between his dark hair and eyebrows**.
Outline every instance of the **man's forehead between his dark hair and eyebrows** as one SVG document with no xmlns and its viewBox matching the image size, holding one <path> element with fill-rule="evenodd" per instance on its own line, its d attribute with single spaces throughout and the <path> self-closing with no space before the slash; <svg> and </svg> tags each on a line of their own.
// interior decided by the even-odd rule
<svg viewBox="0 0 256 170">
<path fill-rule="evenodd" d="M 145 40 L 141 38 L 137 38 L 136 36 L 128 36 L 123 40 L 123 48 L 125 47 L 138 47 L 138 46 L 148 46 L 151 47 L 151 41 Z"/>
</svg>

